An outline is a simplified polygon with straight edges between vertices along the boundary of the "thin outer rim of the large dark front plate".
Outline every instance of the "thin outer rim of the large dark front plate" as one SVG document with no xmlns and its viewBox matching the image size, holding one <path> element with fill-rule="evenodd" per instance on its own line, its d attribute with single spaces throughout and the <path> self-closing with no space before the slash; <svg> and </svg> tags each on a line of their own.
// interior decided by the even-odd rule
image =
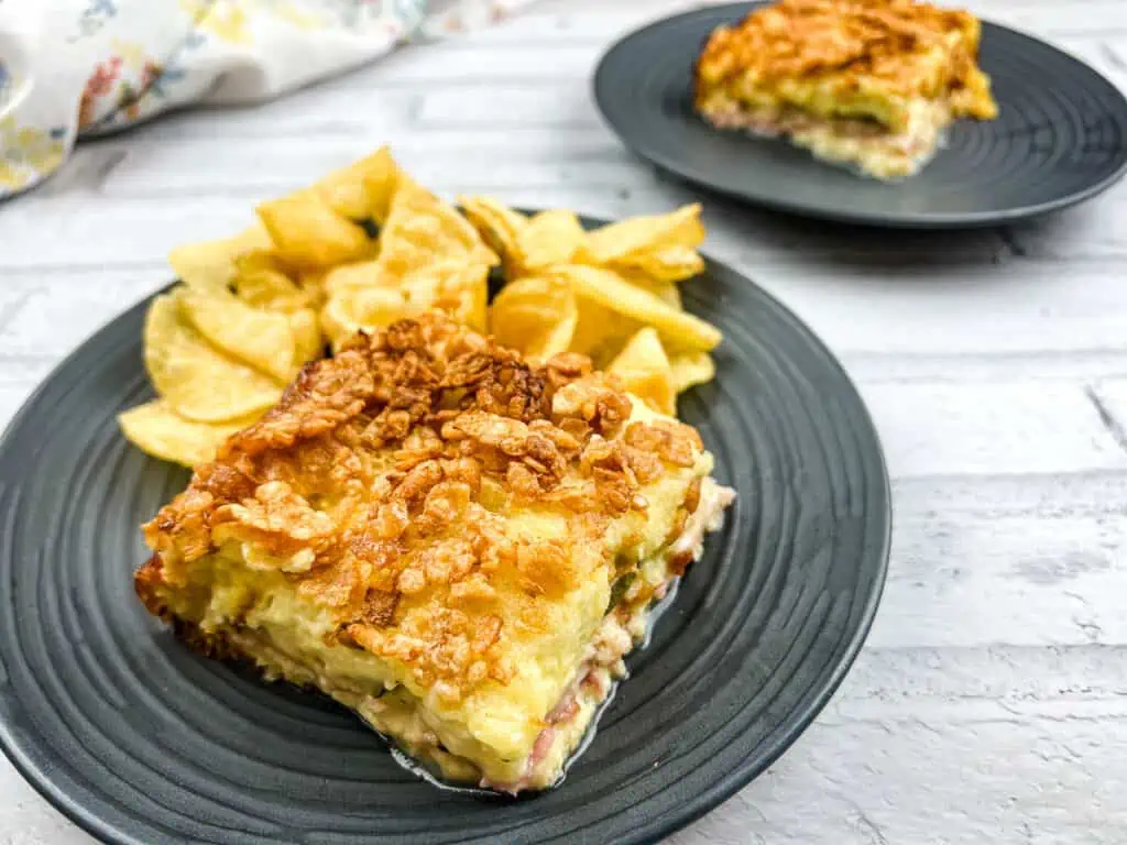
<svg viewBox="0 0 1127 845">
<path fill-rule="evenodd" d="M 584 223 L 585 228 L 592 224 L 605 224 L 613 222 L 614 220 L 583 214 L 579 212 L 576 212 L 576 214 L 580 222 Z M 701 255 L 706 263 L 706 274 L 712 272 L 713 269 L 718 269 L 721 274 L 728 274 L 740 279 L 742 282 L 748 283 L 756 290 L 758 295 L 770 300 L 779 310 L 780 314 L 789 320 L 791 324 L 805 336 L 811 346 L 824 356 L 827 366 L 841 377 L 843 386 L 848 388 L 852 392 L 858 404 L 859 421 L 867 429 L 866 433 L 871 436 L 873 446 L 872 455 L 876 459 L 875 469 L 879 469 L 879 472 L 875 473 L 872 483 L 882 501 L 882 507 L 879 508 L 878 516 L 884 523 L 884 531 L 880 532 L 879 536 L 875 535 L 872 539 L 875 545 L 872 560 L 876 564 L 876 571 L 873 572 L 872 588 L 864 598 L 864 604 L 861 607 L 861 615 L 858 624 L 852 631 L 852 635 L 845 642 L 841 659 L 834 665 L 829 673 L 826 673 L 824 677 L 820 677 L 816 682 L 815 686 L 817 687 L 817 692 L 809 697 L 806 706 L 800 710 L 796 709 L 790 711 L 790 719 L 788 720 L 789 727 L 786 730 L 772 732 L 766 737 L 769 744 L 764 748 L 764 753 L 757 755 L 755 765 L 743 765 L 734 768 L 724 776 L 717 779 L 716 782 L 707 789 L 695 792 L 692 798 L 681 804 L 676 811 L 664 816 L 663 820 L 656 822 L 651 821 L 639 826 L 635 829 L 631 836 L 623 840 L 629 843 L 657 843 L 671 834 L 681 830 L 693 821 L 702 818 L 708 812 L 717 809 L 721 803 L 748 785 L 752 781 L 756 780 L 767 768 L 774 765 L 775 762 L 778 762 L 778 759 L 792 745 L 795 745 L 796 741 L 798 741 L 802 733 L 806 732 L 814 720 L 833 699 L 842 682 L 853 668 L 853 665 L 855 664 L 857 658 L 869 637 L 881 598 L 884 597 L 891 551 L 894 514 L 888 461 L 880 438 L 880 432 L 872 418 L 868 403 L 864 401 L 861 391 L 858 390 L 855 382 L 849 374 L 849 371 L 841 363 L 840 358 L 834 354 L 829 346 L 822 339 L 822 337 L 767 288 L 760 285 L 749 275 L 743 273 L 733 265 L 711 258 L 703 252 Z M 12 416 L 11 420 L 7 426 L 5 426 L 3 432 L 0 433 L 0 457 L 2 457 L 3 453 L 10 447 L 9 441 L 14 436 L 15 432 L 21 426 L 24 419 L 32 412 L 34 406 L 41 397 L 51 388 L 55 379 L 65 368 L 72 366 L 76 361 L 81 358 L 87 348 L 96 344 L 99 338 L 101 338 L 101 336 L 119 320 L 126 318 L 134 311 L 147 306 L 153 297 L 167 291 L 178 282 L 179 279 L 174 279 L 167 285 L 162 285 L 151 293 L 141 296 L 133 304 L 122 309 L 97 329 L 92 330 L 68 355 L 65 355 L 54 367 L 52 367 L 32 391 L 32 393 L 28 394 L 27 399 L 24 400 L 23 404 Z M 0 482 L 2 482 L 2 479 L 0 479 Z M 2 487 L 3 486 L 0 484 L 0 490 L 2 490 Z M 2 549 L 0 549 L 0 552 L 2 552 Z M 0 561 L 0 566 L 2 566 L 2 561 Z M 0 685 L 0 697 L 7 697 L 7 694 L 2 692 L 5 686 L 15 688 L 15 683 L 9 677 L 7 684 Z M 122 829 L 119 826 L 94 812 L 87 804 L 73 798 L 69 792 L 65 792 L 47 772 L 43 771 L 42 766 L 35 764 L 35 762 L 26 753 L 24 746 L 17 740 L 16 732 L 12 730 L 11 726 L 9 726 L 8 721 L 2 718 L 0 718 L 0 751 L 2 751 L 5 757 L 11 762 L 15 770 L 20 774 L 24 781 L 35 790 L 35 792 L 44 798 L 55 810 L 61 812 L 79 828 L 90 834 L 98 842 L 105 843 L 105 845 L 144 845 L 143 840 L 137 839 L 133 834 Z"/>
</svg>

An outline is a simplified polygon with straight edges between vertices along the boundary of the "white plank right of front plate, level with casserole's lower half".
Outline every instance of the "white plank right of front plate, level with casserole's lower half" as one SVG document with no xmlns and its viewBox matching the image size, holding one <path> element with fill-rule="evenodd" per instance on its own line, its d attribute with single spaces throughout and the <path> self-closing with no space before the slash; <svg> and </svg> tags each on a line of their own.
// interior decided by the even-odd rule
<svg viewBox="0 0 1127 845">
<path fill-rule="evenodd" d="M 1120 492 L 1127 492 L 1127 482 Z M 893 566 L 868 642 L 1127 646 L 1125 548 L 1127 510 L 898 517 Z"/>
</svg>

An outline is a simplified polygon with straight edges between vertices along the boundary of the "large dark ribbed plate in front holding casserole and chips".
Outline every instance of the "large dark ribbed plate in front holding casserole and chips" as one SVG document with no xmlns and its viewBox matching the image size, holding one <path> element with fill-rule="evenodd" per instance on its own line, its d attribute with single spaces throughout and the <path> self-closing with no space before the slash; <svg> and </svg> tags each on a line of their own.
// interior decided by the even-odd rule
<svg viewBox="0 0 1127 845">
<path fill-rule="evenodd" d="M 115 843 L 630 843 L 701 816 L 795 740 L 860 649 L 889 488 L 860 398 L 808 329 L 721 265 L 683 291 L 725 341 L 681 410 L 739 498 L 557 789 L 440 790 L 331 701 L 196 657 L 141 607 L 139 525 L 187 481 L 115 422 L 152 395 L 148 302 L 71 355 L 0 444 L 0 745 Z"/>
</svg>

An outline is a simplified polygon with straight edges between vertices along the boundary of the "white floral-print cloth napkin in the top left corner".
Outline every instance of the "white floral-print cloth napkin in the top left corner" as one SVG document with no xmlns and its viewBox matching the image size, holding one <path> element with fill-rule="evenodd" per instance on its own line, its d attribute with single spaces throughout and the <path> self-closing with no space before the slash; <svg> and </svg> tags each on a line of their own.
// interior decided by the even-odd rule
<svg viewBox="0 0 1127 845">
<path fill-rule="evenodd" d="M 0 199 L 77 139 L 270 99 L 531 0 L 0 0 Z"/>
</svg>

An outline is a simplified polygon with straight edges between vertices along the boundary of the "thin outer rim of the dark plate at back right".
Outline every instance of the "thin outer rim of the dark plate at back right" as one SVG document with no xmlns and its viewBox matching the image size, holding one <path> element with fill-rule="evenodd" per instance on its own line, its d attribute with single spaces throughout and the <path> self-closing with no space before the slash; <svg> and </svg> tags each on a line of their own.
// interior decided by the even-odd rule
<svg viewBox="0 0 1127 845">
<path fill-rule="evenodd" d="M 1015 223 L 1022 220 L 1029 220 L 1032 217 L 1039 217 L 1045 214 L 1049 214 L 1056 211 L 1063 211 L 1070 208 L 1074 205 L 1084 203 L 1095 196 L 1108 190 L 1116 183 L 1127 177 L 1127 154 L 1124 155 L 1122 161 L 1119 167 L 1112 171 L 1109 176 L 1104 177 L 1102 180 L 1090 185 L 1083 190 L 1068 194 L 1067 196 L 1057 197 L 1055 199 L 1049 199 L 1044 203 L 1037 203 L 1035 205 L 1022 205 L 1013 208 L 1006 208 L 1003 211 L 993 212 L 969 212 L 962 214 L 950 214 L 950 213 L 937 213 L 937 214 L 876 214 L 867 212 L 851 213 L 849 211 L 835 211 L 832 208 L 817 208 L 804 203 L 790 202 L 787 197 L 770 196 L 770 195 L 751 195 L 740 190 L 735 190 L 725 187 L 719 181 L 712 179 L 704 179 L 699 176 L 694 176 L 690 168 L 680 164 L 672 157 L 665 153 L 654 152 L 651 150 L 642 150 L 639 146 L 627 143 L 622 133 L 619 131 L 618 125 L 609 115 L 609 109 L 605 105 L 605 94 L 613 82 L 607 82 L 606 80 L 606 63 L 607 60 L 616 51 L 624 48 L 631 41 L 637 37 L 641 37 L 649 33 L 651 29 L 659 29 L 664 26 L 669 25 L 673 21 L 682 20 L 684 18 L 695 18 L 703 17 L 707 15 L 715 15 L 718 12 L 737 12 L 737 11 L 751 11 L 755 8 L 761 8 L 770 6 L 773 0 L 737 0 L 737 2 L 728 2 L 718 6 L 706 6 L 698 7 L 694 9 L 689 9 L 687 11 L 677 12 L 675 15 L 666 15 L 665 17 L 651 20 L 648 24 L 644 24 L 640 27 L 631 29 L 624 35 L 619 36 L 615 41 L 606 47 L 598 56 L 595 62 L 595 70 L 591 74 L 589 81 L 589 92 L 591 98 L 595 104 L 595 108 L 598 112 L 600 119 L 604 127 L 610 131 L 619 143 L 628 150 L 631 154 L 649 162 L 650 164 L 660 168 L 674 176 L 677 179 L 684 180 L 698 188 L 709 190 L 717 196 L 724 196 L 729 199 L 734 199 L 744 205 L 749 205 L 758 208 L 766 208 L 769 211 L 781 212 L 796 217 L 806 217 L 808 220 L 823 220 L 832 223 L 843 223 L 849 225 L 866 226 L 870 229 L 897 229 L 897 230 L 970 230 L 970 229 L 988 229 L 992 226 L 1002 226 Z M 1118 96 L 1122 104 L 1124 114 L 1127 115 L 1127 92 L 1120 90 L 1120 88 L 1101 73 L 1098 69 L 1093 68 L 1091 64 L 1068 52 L 1058 47 L 1056 44 L 1048 42 L 1032 33 L 1024 32 L 1018 27 L 1008 26 L 1004 24 L 999 24 L 987 18 L 978 18 L 982 23 L 983 32 L 987 30 L 999 30 L 1008 33 L 1010 35 L 1015 35 L 1019 38 L 1024 38 L 1027 41 L 1036 42 L 1042 46 L 1053 50 L 1054 52 L 1061 54 L 1067 60 L 1074 62 L 1075 64 L 1083 68 L 1086 72 L 1097 77 L 1101 82 L 1103 82 L 1108 88 Z M 780 141 L 779 143 L 786 143 Z M 810 163 L 815 163 L 811 159 Z M 859 177 L 860 178 L 860 177 Z"/>
</svg>

